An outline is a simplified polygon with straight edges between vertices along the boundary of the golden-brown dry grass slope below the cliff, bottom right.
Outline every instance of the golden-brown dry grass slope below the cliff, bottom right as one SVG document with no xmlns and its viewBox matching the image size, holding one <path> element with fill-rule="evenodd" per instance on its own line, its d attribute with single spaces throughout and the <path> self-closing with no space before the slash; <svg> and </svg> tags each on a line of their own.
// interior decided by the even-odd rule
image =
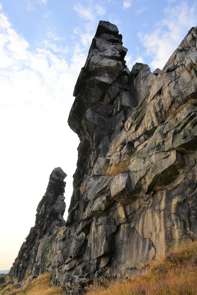
<svg viewBox="0 0 197 295">
<path fill-rule="evenodd" d="M 197 242 L 173 249 L 147 274 L 89 286 L 86 295 L 197 295 Z"/>
</svg>

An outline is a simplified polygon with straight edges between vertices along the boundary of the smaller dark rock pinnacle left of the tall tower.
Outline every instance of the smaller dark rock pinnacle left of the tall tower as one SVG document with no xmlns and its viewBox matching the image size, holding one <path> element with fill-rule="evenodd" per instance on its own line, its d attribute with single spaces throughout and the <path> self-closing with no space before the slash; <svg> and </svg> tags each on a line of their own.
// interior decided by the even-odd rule
<svg viewBox="0 0 197 295">
<path fill-rule="evenodd" d="M 49 177 L 46 193 L 37 206 L 35 225 L 10 269 L 12 279 L 17 277 L 19 285 L 23 284 L 30 271 L 35 278 L 50 269 L 56 233 L 66 224 L 63 218 L 66 209 L 65 177 L 66 173 L 60 167 L 55 168 Z"/>
</svg>

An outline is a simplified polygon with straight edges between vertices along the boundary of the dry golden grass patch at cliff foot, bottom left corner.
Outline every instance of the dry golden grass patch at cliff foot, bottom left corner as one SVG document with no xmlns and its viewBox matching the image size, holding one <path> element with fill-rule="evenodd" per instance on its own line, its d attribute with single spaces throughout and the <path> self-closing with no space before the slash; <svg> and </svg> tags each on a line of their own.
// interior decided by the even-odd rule
<svg viewBox="0 0 197 295">
<path fill-rule="evenodd" d="M 63 295 L 63 290 L 51 287 L 50 274 L 45 273 L 23 289 L 14 289 L 13 285 L 8 285 L 1 290 L 0 295 Z"/>
</svg>

